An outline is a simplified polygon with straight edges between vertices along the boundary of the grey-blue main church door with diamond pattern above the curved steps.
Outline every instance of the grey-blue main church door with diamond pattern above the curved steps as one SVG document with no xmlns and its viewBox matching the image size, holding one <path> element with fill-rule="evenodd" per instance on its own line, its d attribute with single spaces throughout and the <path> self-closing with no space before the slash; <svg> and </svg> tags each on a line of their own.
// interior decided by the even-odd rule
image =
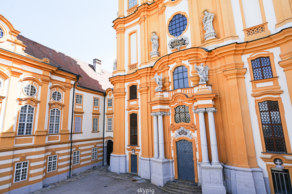
<svg viewBox="0 0 292 194">
<path fill-rule="evenodd" d="M 188 140 L 176 142 L 178 156 L 178 179 L 195 181 L 193 144 Z"/>
</svg>

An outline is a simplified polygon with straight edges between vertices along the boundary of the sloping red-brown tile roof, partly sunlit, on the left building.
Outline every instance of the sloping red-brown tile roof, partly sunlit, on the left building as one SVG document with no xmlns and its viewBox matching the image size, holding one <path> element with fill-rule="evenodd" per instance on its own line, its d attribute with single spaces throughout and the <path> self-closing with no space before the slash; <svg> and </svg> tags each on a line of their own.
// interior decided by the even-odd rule
<svg viewBox="0 0 292 194">
<path fill-rule="evenodd" d="M 107 88 L 114 87 L 109 82 L 112 73 L 102 70 L 101 74 L 97 74 L 91 64 L 45 47 L 22 35 L 18 35 L 17 38 L 27 46 L 25 48 L 25 53 L 39 59 L 48 58 L 50 60 L 49 64 L 57 66 L 61 70 L 79 74 L 82 78 L 78 81 L 78 86 L 100 92 L 104 92 Z"/>
</svg>

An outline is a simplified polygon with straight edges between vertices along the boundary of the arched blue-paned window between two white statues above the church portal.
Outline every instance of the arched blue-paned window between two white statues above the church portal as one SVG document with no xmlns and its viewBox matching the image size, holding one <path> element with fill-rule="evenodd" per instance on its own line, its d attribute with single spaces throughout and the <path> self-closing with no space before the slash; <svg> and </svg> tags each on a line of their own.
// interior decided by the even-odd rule
<svg viewBox="0 0 292 194">
<path fill-rule="evenodd" d="M 176 67 L 173 72 L 173 88 L 188 88 L 189 78 L 187 75 L 187 68 L 185 66 Z"/>
</svg>

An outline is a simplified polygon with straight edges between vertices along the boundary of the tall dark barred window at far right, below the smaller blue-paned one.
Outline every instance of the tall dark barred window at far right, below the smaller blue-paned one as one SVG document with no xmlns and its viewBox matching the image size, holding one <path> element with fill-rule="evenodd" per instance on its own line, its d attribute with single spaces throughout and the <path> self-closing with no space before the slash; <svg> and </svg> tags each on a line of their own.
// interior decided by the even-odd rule
<svg viewBox="0 0 292 194">
<path fill-rule="evenodd" d="M 267 152 L 287 152 L 278 101 L 259 102 Z"/>
</svg>

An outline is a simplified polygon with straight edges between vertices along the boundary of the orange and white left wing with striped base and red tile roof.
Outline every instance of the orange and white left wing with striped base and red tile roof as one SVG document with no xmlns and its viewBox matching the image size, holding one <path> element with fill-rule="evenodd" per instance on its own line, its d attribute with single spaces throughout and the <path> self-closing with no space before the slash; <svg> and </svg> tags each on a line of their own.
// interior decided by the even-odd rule
<svg viewBox="0 0 292 194">
<path fill-rule="evenodd" d="M 114 130 L 112 74 L 101 61 L 86 64 L 19 33 L 0 15 L 0 193 L 6 194 L 107 165 Z"/>
</svg>

